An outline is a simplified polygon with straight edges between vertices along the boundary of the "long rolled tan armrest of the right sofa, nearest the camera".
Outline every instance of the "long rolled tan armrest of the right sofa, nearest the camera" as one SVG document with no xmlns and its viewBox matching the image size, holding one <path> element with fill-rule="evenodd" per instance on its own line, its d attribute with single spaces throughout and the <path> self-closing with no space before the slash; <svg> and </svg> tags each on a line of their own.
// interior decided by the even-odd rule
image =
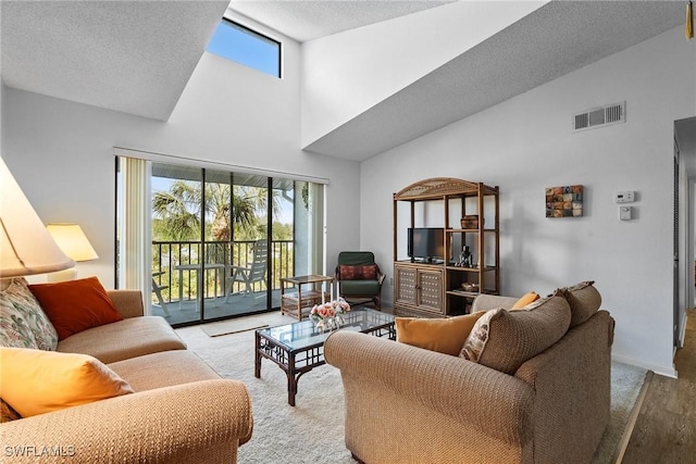
<svg viewBox="0 0 696 464">
<path fill-rule="evenodd" d="M 407 410 L 419 403 L 507 443 L 524 443 L 531 436 L 534 392 L 510 375 L 457 356 L 345 330 L 327 338 L 324 358 L 340 369 L 346 388 L 347 384 L 360 385 L 359 394 L 388 390 L 387 394 L 402 398 Z"/>
</svg>

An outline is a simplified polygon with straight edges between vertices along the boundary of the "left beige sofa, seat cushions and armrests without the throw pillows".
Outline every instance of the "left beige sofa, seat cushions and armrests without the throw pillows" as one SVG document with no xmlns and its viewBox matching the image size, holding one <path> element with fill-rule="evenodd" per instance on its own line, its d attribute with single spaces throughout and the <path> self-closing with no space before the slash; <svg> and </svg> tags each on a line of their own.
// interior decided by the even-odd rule
<svg viewBox="0 0 696 464">
<path fill-rule="evenodd" d="M 236 462 L 252 431 L 245 385 L 222 379 L 187 351 L 163 318 L 144 316 L 140 291 L 109 296 L 124 319 L 75 334 L 58 351 L 94 355 L 135 393 L 4 423 L 3 455 L 10 452 L 12 462 Z"/>
</svg>

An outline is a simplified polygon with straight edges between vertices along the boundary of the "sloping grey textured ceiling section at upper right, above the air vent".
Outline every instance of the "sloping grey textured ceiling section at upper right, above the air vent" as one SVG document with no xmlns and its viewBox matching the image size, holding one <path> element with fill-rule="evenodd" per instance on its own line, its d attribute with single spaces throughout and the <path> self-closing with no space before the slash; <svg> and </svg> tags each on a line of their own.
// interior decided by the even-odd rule
<svg viewBox="0 0 696 464">
<path fill-rule="evenodd" d="M 304 149 L 369 159 L 671 29 L 683 20 L 683 2 L 547 3 Z"/>
</svg>

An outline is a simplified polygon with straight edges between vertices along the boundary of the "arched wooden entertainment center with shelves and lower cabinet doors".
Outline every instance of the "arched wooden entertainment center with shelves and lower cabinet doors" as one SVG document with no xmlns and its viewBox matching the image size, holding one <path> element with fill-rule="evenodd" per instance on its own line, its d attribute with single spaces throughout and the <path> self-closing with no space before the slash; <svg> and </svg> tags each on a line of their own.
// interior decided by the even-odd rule
<svg viewBox="0 0 696 464">
<path fill-rule="evenodd" d="M 403 210 L 405 204 L 408 205 L 410 221 L 408 226 L 399 227 L 398 211 Z M 431 210 L 437 211 L 433 213 Z M 411 256 L 405 259 L 399 239 L 407 237 L 409 229 L 415 227 L 437 228 L 437 234 L 442 228 L 442 260 L 431 256 L 418 259 L 411 250 L 412 243 L 407 243 Z M 408 234 L 409 240 L 412 234 Z M 460 260 L 464 246 L 473 252 L 470 266 L 461 265 L 467 262 Z M 435 177 L 394 193 L 394 313 L 399 316 L 447 317 L 467 313 L 478 293 L 498 294 L 499 250 L 497 186 Z"/>
</svg>

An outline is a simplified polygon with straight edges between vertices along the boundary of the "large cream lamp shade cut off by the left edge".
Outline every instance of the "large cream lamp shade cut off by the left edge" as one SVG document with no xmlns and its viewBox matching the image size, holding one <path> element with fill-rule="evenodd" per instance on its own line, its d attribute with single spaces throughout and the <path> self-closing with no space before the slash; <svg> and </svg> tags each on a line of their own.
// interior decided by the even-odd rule
<svg viewBox="0 0 696 464">
<path fill-rule="evenodd" d="M 52 273 L 74 265 L 0 159 L 0 277 Z"/>
</svg>

